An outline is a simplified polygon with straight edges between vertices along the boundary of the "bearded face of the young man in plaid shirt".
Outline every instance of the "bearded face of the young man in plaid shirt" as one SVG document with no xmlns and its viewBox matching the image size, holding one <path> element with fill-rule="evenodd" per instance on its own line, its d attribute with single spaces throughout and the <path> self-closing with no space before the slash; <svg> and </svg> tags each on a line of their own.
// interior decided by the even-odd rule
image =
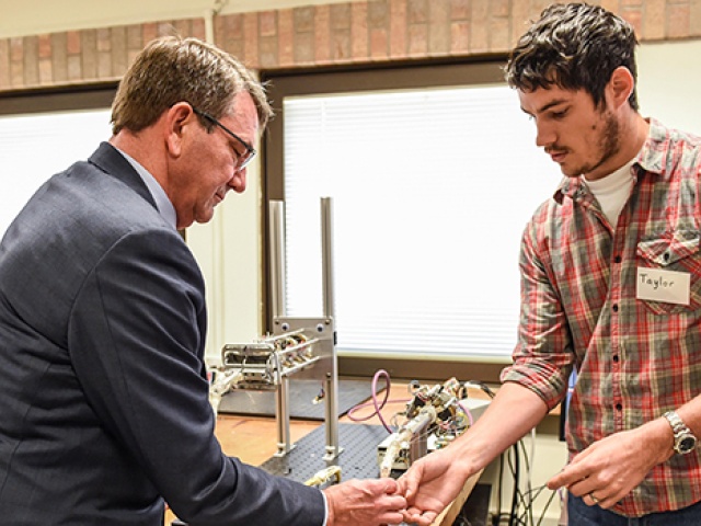
<svg viewBox="0 0 701 526">
<path fill-rule="evenodd" d="M 560 164 L 562 173 L 593 181 L 611 173 L 620 151 L 619 124 L 605 103 L 594 105 L 584 90 L 552 85 L 518 91 L 521 110 L 536 122 L 536 145 Z"/>
</svg>

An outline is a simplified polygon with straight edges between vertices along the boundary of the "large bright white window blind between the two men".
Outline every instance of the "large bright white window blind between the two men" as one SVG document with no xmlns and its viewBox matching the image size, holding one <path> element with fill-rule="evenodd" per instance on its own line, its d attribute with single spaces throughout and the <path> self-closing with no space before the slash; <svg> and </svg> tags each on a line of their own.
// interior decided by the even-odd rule
<svg viewBox="0 0 701 526">
<path fill-rule="evenodd" d="M 286 313 L 320 316 L 333 202 L 341 355 L 506 359 L 518 250 L 561 173 L 506 85 L 288 96 Z"/>
</svg>

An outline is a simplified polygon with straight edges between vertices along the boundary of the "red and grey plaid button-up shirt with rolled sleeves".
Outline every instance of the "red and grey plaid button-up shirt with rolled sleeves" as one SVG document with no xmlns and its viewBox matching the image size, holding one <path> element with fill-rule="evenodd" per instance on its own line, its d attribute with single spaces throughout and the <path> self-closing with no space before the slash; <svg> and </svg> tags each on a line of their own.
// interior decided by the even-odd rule
<svg viewBox="0 0 701 526">
<path fill-rule="evenodd" d="M 652 119 L 616 231 L 579 179 L 565 179 L 521 242 L 521 315 L 502 374 L 550 409 L 578 371 L 571 455 L 701 393 L 701 138 Z M 639 268 L 690 276 L 689 305 L 636 298 Z M 701 501 L 699 449 L 653 468 L 613 511 L 630 517 Z"/>
</svg>

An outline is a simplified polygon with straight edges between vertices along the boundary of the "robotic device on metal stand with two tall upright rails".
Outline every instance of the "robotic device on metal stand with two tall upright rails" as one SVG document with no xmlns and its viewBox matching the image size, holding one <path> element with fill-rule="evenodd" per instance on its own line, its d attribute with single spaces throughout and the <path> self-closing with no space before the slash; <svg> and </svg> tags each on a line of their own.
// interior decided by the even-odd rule
<svg viewBox="0 0 701 526">
<path fill-rule="evenodd" d="M 271 202 L 272 311 L 273 334 L 257 342 L 227 344 L 221 351 L 221 366 L 211 370 L 209 401 L 217 414 L 221 397 L 232 389 L 274 390 L 277 423 L 277 453 L 287 455 L 295 445 L 289 428 L 289 379 L 320 380 L 314 403 L 325 402 L 325 455 L 331 464 L 341 453 L 338 447 L 338 374 L 331 291 L 331 199 L 321 199 L 322 270 L 324 316 L 290 318 L 285 308 L 283 203 Z M 278 315 L 281 313 L 281 315 Z"/>
</svg>

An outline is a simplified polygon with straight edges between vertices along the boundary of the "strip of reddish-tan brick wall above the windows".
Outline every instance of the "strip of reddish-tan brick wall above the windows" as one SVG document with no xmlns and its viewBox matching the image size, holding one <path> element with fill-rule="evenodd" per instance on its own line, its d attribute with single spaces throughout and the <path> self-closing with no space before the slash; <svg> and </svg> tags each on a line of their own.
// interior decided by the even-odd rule
<svg viewBox="0 0 701 526">
<path fill-rule="evenodd" d="M 254 69 L 503 53 L 551 0 L 366 0 L 220 15 L 216 43 Z M 701 37 L 701 0 L 601 0 L 641 41 Z M 0 38 L 0 93 L 118 79 L 161 34 L 204 19 Z"/>
</svg>

